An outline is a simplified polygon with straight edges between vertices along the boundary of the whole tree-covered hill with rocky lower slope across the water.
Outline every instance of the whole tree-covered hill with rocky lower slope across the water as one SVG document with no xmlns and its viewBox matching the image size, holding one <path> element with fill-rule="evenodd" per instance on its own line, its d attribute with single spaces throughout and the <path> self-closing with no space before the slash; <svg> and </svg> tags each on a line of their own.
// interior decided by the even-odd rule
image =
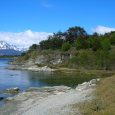
<svg viewBox="0 0 115 115">
<path fill-rule="evenodd" d="M 81 27 L 54 33 L 47 40 L 33 44 L 15 64 L 74 69 L 115 69 L 115 32 L 88 35 Z"/>
</svg>

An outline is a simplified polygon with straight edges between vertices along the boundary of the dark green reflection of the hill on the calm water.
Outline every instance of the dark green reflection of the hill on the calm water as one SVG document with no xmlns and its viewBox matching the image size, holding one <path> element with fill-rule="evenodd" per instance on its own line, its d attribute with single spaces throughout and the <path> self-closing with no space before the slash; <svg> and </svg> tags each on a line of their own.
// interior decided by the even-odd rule
<svg viewBox="0 0 115 115">
<path fill-rule="evenodd" d="M 33 83 L 39 81 L 39 83 L 44 84 L 45 86 L 66 85 L 70 87 L 75 87 L 77 86 L 77 84 L 83 83 L 84 81 L 89 81 L 93 77 L 96 76 L 81 73 L 64 74 L 60 72 L 55 73 L 29 72 L 29 81 Z"/>
</svg>

